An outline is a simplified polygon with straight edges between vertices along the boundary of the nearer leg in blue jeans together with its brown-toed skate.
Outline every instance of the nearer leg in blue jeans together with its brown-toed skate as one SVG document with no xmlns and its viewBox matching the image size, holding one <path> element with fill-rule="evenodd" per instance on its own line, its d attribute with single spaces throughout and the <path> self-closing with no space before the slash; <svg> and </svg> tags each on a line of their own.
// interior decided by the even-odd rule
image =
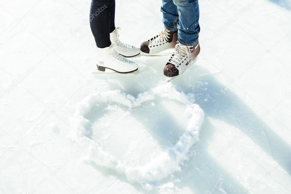
<svg viewBox="0 0 291 194">
<path fill-rule="evenodd" d="M 185 72 L 189 66 L 196 62 L 200 53 L 198 0 L 173 0 L 173 2 L 178 8 L 179 43 L 175 46 L 174 54 L 164 67 L 164 75 L 171 77 L 171 79 Z"/>
</svg>

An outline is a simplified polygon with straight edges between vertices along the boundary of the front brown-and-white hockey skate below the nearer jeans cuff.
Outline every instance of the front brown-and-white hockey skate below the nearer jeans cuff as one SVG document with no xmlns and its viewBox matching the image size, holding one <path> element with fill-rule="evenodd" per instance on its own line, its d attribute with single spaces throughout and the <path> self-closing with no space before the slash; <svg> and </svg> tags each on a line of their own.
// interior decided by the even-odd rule
<svg viewBox="0 0 291 194">
<path fill-rule="evenodd" d="M 178 43 L 175 49 L 175 53 L 170 57 L 164 68 L 164 75 L 170 77 L 168 80 L 184 73 L 188 67 L 196 62 L 200 53 L 198 40 L 193 46 L 184 46 Z"/>
</svg>

